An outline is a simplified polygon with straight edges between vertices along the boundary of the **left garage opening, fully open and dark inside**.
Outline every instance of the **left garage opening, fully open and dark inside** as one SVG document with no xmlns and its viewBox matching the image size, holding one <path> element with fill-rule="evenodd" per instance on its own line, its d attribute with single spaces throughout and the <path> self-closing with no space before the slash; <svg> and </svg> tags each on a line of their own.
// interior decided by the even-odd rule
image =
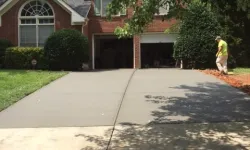
<svg viewBox="0 0 250 150">
<path fill-rule="evenodd" d="M 95 69 L 133 68 L 133 39 L 95 35 Z"/>
</svg>

